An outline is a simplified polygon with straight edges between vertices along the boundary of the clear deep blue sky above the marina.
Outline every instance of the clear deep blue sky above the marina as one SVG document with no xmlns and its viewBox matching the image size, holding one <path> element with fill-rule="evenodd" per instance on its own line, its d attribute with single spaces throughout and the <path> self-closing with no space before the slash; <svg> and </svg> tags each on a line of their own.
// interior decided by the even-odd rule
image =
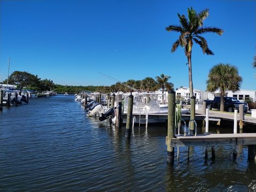
<svg viewBox="0 0 256 192">
<path fill-rule="evenodd" d="M 0 77 L 27 71 L 62 85 L 111 85 L 104 73 L 129 79 L 170 75 L 174 87 L 188 86 L 187 58 L 182 48 L 171 53 L 178 33 L 177 13 L 187 8 L 210 9 L 205 26 L 219 27 L 222 36 L 205 34 L 214 55 L 194 44 L 194 88 L 206 89 L 209 70 L 230 63 L 243 77 L 241 89 L 256 90 L 256 1 L 114 1 L 1 0 Z"/>
</svg>

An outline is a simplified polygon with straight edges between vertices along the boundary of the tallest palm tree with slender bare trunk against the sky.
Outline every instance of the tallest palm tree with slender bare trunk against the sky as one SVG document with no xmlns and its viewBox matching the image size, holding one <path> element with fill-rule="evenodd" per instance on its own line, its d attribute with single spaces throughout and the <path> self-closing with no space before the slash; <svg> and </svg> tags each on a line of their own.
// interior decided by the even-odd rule
<svg viewBox="0 0 256 192">
<path fill-rule="evenodd" d="M 188 8 L 188 19 L 185 15 L 180 15 L 178 13 L 180 25 L 170 25 L 165 28 L 169 32 L 176 31 L 180 33 L 179 39 L 177 39 L 177 41 L 172 45 L 171 52 L 176 51 L 179 46 L 183 47 L 185 50 L 185 54 L 188 59 L 189 93 L 191 97 L 194 95 L 191 64 L 193 42 L 197 43 L 201 47 L 204 54 L 213 55 L 213 52 L 208 47 L 206 39 L 201 35 L 205 33 L 217 33 L 218 35 L 221 35 L 223 33 L 223 30 L 220 28 L 203 27 L 203 21 L 208 16 L 209 9 L 205 9 L 197 14 L 191 7 L 190 9 Z"/>
</svg>

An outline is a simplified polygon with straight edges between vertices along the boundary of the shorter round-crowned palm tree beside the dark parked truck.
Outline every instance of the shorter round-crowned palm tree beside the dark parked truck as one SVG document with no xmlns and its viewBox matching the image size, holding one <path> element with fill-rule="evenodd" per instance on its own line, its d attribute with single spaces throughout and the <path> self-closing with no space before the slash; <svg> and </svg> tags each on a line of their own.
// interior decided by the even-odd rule
<svg viewBox="0 0 256 192">
<path fill-rule="evenodd" d="M 238 75 L 238 69 L 229 64 L 219 63 L 210 69 L 206 81 L 207 91 L 220 90 L 220 110 L 224 111 L 225 91 L 238 91 L 243 79 Z"/>
</svg>

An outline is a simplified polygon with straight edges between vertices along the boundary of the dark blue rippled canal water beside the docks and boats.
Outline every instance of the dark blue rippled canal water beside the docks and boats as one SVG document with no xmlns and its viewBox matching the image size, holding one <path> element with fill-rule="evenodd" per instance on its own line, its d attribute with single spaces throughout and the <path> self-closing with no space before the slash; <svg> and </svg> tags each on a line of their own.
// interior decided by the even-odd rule
<svg viewBox="0 0 256 192">
<path fill-rule="evenodd" d="M 190 162 L 180 153 L 169 167 L 166 135 L 166 125 L 134 127 L 126 141 L 125 126 L 87 117 L 70 95 L 4 108 L 0 191 L 256 191 L 256 166 L 247 162 L 247 147 L 237 147 L 236 162 L 233 147 L 216 147 L 215 161 L 206 162 L 204 147 L 190 148 Z"/>
</svg>

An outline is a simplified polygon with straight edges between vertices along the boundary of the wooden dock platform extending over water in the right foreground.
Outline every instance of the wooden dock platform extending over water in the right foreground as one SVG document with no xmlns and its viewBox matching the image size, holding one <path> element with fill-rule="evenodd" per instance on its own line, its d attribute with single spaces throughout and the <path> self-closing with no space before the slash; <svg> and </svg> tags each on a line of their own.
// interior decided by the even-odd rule
<svg viewBox="0 0 256 192">
<path fill-rule="evenodd" d="M 198 136 L 177 135 L 171 139 L 171 147 L 256 145 L 256 133 L 207 134 Z"/>
</svg>

